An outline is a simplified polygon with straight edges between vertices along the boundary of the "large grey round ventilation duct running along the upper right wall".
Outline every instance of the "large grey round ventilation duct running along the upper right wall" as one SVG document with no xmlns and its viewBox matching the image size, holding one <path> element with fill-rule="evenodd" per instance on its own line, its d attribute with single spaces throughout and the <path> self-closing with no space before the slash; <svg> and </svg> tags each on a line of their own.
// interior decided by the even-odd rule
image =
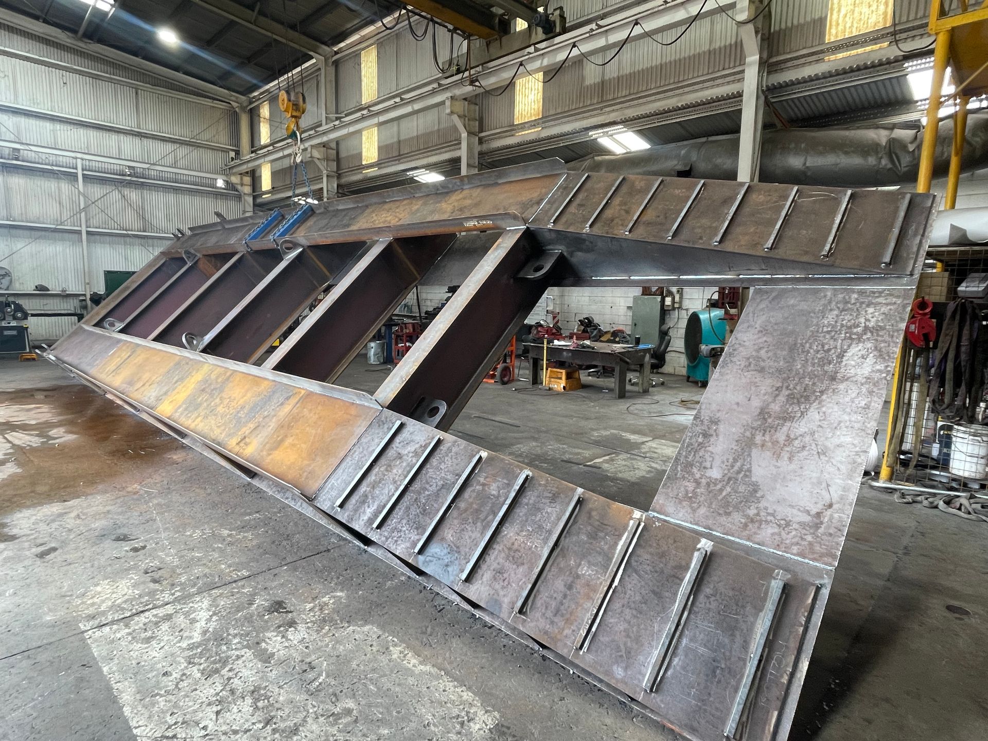
<svg viewBox="0 0 988 741">
<path fill-rule="evenodd" d="M 947 175 L 953 124 L 940 124 L 936 175 Z M 578 172 L 734 180 L 738 134 L 663 144 L 626 154 L 594 154 L 570 162 Z M 913 184 L 923 130 L 917 124 L 783 128 L 766 131 L 759 180 L 765 183 L 874 188 Z M 988 167 L 988 114 L 967 120 L 963 171 Z"/>
</svg>

